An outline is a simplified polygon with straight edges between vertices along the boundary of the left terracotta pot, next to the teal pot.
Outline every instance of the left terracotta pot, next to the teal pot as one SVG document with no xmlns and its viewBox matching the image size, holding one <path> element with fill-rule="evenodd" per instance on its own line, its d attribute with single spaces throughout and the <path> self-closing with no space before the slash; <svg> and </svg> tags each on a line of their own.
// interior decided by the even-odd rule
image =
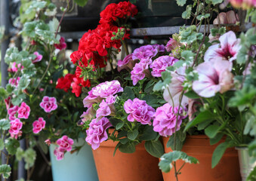
<svg viewBox="0 0 256 181">
<path fill-rule="evenodd" d="M 150 155 L 144 144 L 136 146 L 134 153 L 116 151 L 117 142 L 107 140 L 100 143 L 100 147 L 93 150 L 94 161 L 100 181 L 161 181 L 159 159 Z"/>
</svg>

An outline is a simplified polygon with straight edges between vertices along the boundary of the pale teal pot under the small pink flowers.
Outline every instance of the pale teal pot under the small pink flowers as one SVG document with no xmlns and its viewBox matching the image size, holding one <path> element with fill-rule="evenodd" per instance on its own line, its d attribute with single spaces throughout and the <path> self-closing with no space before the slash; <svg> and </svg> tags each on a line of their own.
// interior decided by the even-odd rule
<svg viewBox="0 0 256 181">
<path fill-rule="evenodd" d="M 74 145 L 82 146 L 84 139 L 79 142 L 74 140 Z M 51 170 L 54 181 L 97 181 L 97 170 L 94 164 L 94 157 L 91 146 L 85 146 L 79 152 L 70 154 L 66 152 L 63 160 L 57 161 L 54 155 L 55 145 L 50 146 Z"/>
</svg>

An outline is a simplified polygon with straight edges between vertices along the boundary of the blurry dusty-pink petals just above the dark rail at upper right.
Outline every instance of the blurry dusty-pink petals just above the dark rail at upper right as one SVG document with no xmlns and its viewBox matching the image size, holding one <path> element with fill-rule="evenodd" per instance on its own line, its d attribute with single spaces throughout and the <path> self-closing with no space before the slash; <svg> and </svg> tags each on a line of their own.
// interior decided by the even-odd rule
<svg viewBox="0 0 256 181">
<path fill-rule="evenodd" d="M 221 12 L 215 19 L 214 24 L 236 24 L 239 17 L 234 11 Z"/>
</svg>

